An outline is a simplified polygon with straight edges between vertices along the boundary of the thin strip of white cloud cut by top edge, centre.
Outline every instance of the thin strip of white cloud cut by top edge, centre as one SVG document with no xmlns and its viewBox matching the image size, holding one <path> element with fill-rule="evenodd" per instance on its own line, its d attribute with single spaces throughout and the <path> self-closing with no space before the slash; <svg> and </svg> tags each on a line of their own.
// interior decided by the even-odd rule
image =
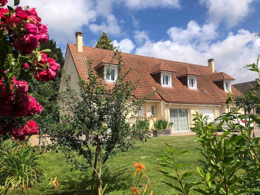
<svg viewBox="0 0 260 195">
<path fill-rule="evenodd" d="M 132 9 L 144 9 L 148 7 L 181 7 L 179 0 L 126 0 L 125 5 Z"/>
</svg>

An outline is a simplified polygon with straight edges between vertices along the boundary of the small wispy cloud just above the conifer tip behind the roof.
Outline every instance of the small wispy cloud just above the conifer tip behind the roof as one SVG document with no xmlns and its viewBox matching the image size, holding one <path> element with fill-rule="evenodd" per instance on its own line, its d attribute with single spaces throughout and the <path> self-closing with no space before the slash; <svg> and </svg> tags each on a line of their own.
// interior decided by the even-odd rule
<svg viewBox="0 0 260 195">
<path fill-rule="evenodd" d="M 90 31 L 93 33 L 102 33 L 103 31 L 112 35 L 120 34 L 120 27 L 114 15 L 108 15 L 106 23 L 101 23 L 100 25 L 92 23 L 89 25 Z"/>
</svg>

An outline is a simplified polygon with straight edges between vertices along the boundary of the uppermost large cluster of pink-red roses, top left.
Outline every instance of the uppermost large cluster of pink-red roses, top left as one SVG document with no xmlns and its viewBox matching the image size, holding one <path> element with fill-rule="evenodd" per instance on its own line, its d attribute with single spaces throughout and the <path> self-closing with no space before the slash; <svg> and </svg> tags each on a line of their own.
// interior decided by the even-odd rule
<svg viewBox="0 0 260 195">
<path fill-rule="evenodd" d="M 16 7 L 10 17 L 4 15 L 9 9 L 1 7 L 1 24 L 5 29 L 9 39 L 13 41 L 12 45 L 17 51 L 23 54 L 30 54 L 40 43 L 45 44 L 49 40 L 47 26 L 41 24 L 41 18 L 38 17 L 35 8 Z M 10 31 L 12 29 L 12 31 Z M 10 32 L 10 33 L 9 33 Z"/>
</svg>

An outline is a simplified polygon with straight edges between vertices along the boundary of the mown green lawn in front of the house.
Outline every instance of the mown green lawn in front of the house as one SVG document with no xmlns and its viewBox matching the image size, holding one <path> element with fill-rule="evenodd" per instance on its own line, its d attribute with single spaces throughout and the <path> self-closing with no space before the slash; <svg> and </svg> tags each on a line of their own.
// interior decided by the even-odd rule
<svg viewBox="0 0 260 195">
<path fill-rule="evenodd" d="M 196 171 L 196 166 L 201 166 L 199 159 L 203 157 L 195 147 L 199 147 L 198 143 L 194 143 L 195 136 L 170 136 L 158 137 L 148 140 L 147 143 L 137 143 L 140 148 L 130 150 L 129 152 L 118 154 L 111 157 L 105 164 L 102 171 L 103 183 L 108 183 L 106 194 L 118 195 L 122 191 L 126 192 L 129 189 L 129 181 L 134 173 L 132 161 L 141 162 L 146 165 L 147 176 L 150 178 L 150 190 L 154 190 L 154 194 L 172 194 L 175 192 L 169 188 L 162 181 L 172 182 L 168 178 L 162 176 L 157 170 L 164 170 L 173 173 L 173 170 L 158 166 L 156 163 L 156 155 L 161 154 L 162 150 L 166 148 L 164 142 L 175 146 L 177 149 L 192 150 L 191 153 L 179 157 L 178 163 L 185 163 L 186 166 L 182 167 L 182 172 L 194 172 L 190 181 L 199 180 L 199 175 Z M 85 172 L 73 170 L 70 172 L 71 167 L 66 164 L 66 160 L 62 153 L 55 151 L 47 152 L 45 158 L 47 178 L 43 178 L 41 185 L 28 189 L 24 194 L 43 194 L 45 187 L 49 180 L 57 176 L 59 181 L 59 188 L 55 194 L 89 194 L 92 169 Z M 95 188 L 97 188 L 95 186 Z M 53 188 L 48 188 L 47 194 L 52 194 Z M 97 192 L 95 192 L 97 194 Z"/>
</svg>

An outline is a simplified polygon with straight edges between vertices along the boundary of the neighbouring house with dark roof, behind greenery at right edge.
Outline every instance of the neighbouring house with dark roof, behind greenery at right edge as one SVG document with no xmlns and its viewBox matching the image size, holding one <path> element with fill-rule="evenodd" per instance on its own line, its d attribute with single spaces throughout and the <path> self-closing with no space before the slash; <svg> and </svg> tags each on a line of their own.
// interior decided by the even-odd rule
<svg viewBox="0 0 260 195">
<path fill-rule="evenodd" d="M 256 88 L 256 86 L 257 86 L 257 80 L 249 81 L 249 82 L 245 82 L 245 83 L 237 83 L 237 84 L 234 84 L 233 86 L 234 86 L 238 91 L 240 91 L 241 93 L 247 94 L 247 93 L 250 91 L 250 89 Z M 257 97 L 260 97 L 260 91 L 258 91 L 258 90 L 253 90 L 252 92 L 253 92 Z M 254 113 L 253 113 L 253 109 L 252 109 L 251 114 L 254 114 Z M 260 116 L 260 108 L 259 108 L 259 107 L 255 108 L 255 114 L 257 114 L 258 116 Z"/>
</svg>

